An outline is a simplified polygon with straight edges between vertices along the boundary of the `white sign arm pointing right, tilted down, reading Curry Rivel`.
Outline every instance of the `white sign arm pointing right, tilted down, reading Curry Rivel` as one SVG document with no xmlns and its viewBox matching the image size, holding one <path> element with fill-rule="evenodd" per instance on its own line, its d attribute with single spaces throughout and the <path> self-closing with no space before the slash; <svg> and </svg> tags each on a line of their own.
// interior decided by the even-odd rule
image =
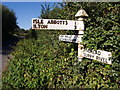
<svg viewBox="0 0 120 90">
<path fill-rule="evenodd" d="M 91 49 L 84 49 L 83 51 L 83 57 L 97 60 L 103 63 L 112 64 L 111 52 L 102 51 L 102 50 L 91 50 Z"/>
</svg>

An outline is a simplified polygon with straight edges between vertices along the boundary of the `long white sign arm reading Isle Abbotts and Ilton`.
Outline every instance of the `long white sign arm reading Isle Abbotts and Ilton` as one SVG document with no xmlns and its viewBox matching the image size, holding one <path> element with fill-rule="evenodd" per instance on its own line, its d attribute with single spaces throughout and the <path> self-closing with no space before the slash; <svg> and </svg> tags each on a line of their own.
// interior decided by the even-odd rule
<svg viewBox="0 0 120 90">
<path fill-rule="evenodd" d="M 32 29 L 84 30 L 84 24 L 83 21 L 33 18 Z"/>
</svg>

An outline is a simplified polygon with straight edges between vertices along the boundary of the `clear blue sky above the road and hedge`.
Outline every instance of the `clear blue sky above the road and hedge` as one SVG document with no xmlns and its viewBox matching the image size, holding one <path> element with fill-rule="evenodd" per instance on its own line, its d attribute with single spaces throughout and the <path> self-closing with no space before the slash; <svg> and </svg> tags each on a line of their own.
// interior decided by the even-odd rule
<svg viewBox="0 0 120 90">
<path fill-rule="evenodd" d="M 46 2 L 53 6 L 57 2 Z M 32 27 L 32 18 L 38 18 L 41 13 L 41 5 L 45 2 L 2 2 L 9 9 L 14 10 L 17 17 L 17 25 L 25 30 Z"/>
</svg>

